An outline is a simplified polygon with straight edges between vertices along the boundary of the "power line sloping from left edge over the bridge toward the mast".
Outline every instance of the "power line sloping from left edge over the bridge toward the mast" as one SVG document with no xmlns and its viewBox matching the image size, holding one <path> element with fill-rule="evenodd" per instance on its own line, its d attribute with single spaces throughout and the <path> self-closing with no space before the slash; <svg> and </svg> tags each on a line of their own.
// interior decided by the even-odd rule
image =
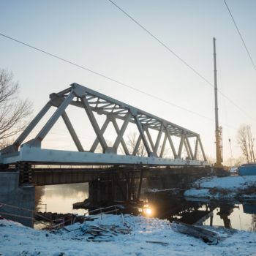
<svg viewBox="0 0 256 256">
<path fill-rule="evenodd" d="M 176 107 L 176 108 L 179 108 L 179 109 L 181 109 L 181 110 L 187 111 L 187 112 L 192 113 L 192 114 L 194 114 L 194 115 L 196 115 L 196 116 L 200 116 L 200 117 L 202 117 L 202 118 L 206 118 L 206 119 L 208 119 L 208 120 L 213 121 L 213 119 L 211 119 L 211 118 L 208 118 L 208 117 L 206 117 L 206 116 L 203 116 L 203 115 L 201 115 L 201 114 L 199 114 L 199 113 L 196 113 L 196 112 L 194 112 L 194 111 L 192 111 L 192 110 L 189 110 L 189 109 L 187 109 L 187 108 L 178 106 L 178 105 L 176 105 L 176 104 L 174 104 L 174 103 L 172 103 L 172 102 L 169 102 L 169 101 L 167 101 L 167 100 L 165 100 L 165 99 L 159 98 L 159 97 L 157 97 L 157 96 L 155 96 L 155 95 L 148 94 L 146 91 L 142 91 L 142 90 L 137 89 L 137 88 L 135 88 L 135 87 L 133 87 L 133 86 L 129 86 L 127 83 L 122 83 L 122 82 L 120 82 L 120 81 L 118 81 L 118 80 L 116 80 L 116 79 L 110 78 L 110 77 L 108 77 L 108 76 L 106 76 L 106 75 L 102 75 L 102 74 L 99 73 L 99 72 L 96 72 L 96 71 L 94 71 L 94 70 L 92 70 L 92 69 L 89 69 L 89 68 L 87 68 L 87 67 L 83 67 L 83 66 L 81 66 L 81 65 L 79 65 L 79 64 L 76 64 L 76 63 L 73 62 L 73 61 L 69 61 L 69 60 L 64 59 L 64 58 L 62 58 L 62 57 L 60 57 L 60 56 L 57 56 L 56 54 L 49 53 L 49 52 L 47 52 L 47 51 L 45 51 L 45 50 L 42 50 L 42 49 L 37 48 L 37 47 L 34 47 L 33 45 L 29 45 L 29 44 L 27 44 L 26 42 L 21 42 L 21 41 L 18 40 L 18 39 L 15 39 L 15 38 L 13 38 L 13 37 L 7 36 L 6 34 L 1 34 L 1 33 L 0 33 L 0 35 L 1 35 L 2 37 L 5 37 L 5 38 L 7 38 L 7 39 L 10 39 L 10 40 L 12 40 L 12 41 L 14 41 L 14 42 L 18 42 L 18 43 L 21 44 L 21 45 L 25 45 L 26 47 L 32 48 L 32 49 L 37 50 L 37 51 L 39 51 L 39 52 L 41 52 L 41 53 L 45 53 L 45 54 L 48 55 L 48 56 L 51 56 L 51 57 L 53 57 L 53 58 L 56 58 L 56 59 L 59 59 L 59 60 L 61 60 L 61 61 L 67 62 L 67 63 L 69 63 L 69 64 L 72 64 L 72 65 L 75 66 L 75 67 L 79 67 L 80 69 L 84 69 L 84 70 L 86 70 L 86 71 L 88 71 L 88 72 L 93 73 L 94 75 L 98 75 L 98 76 L 100 76 L 100 77 L 102 77 L 102 78 L 105 78 L 105 79 L 108 79 L 108 80 L 113 81 L 113 82 L 115 82 L 115 83 L 118 83 L 118 84 L 120 84 L 121 86 L 125 86 L 125 87 L 127 87 L 127 88 L 129 88 L 129 89 L 132 89 L 132 90 L 134 90 L 134 91 L 138 91 L 138 92 L 140 92 L 141 94 L 147 95 L 148 97 L 157 99 L 157 100 L 159 100 L 159 101 L 161 101 L 161 102 L 165 102 L 165 103 L 168 104 L 168 105 L 172 105 L 172 106 L 174 106 L 174 107 Z"/>
</svg>

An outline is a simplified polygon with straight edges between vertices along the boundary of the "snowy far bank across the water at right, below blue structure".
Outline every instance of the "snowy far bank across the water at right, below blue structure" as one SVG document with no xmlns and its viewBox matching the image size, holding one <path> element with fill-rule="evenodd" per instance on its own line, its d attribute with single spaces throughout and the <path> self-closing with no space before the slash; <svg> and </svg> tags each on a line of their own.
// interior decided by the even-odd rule
<svg viewBox="0 0 256 256">
<path fill-rule="evenodd" d="M 200 178 L 193 187 L 184 193 L 185 197 L 256 198 L 256 176 Z"/>
</svg>

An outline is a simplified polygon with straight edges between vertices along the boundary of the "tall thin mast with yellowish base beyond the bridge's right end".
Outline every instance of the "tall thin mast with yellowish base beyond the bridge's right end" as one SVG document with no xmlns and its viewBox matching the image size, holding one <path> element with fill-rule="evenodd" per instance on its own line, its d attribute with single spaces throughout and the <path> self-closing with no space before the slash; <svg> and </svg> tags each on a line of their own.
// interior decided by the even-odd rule
<svg viewBox="0 0 256 256">
<path fill-rule="evenodd" d="M 216 38 L 214 37 L 214 99 L 215 99 L 215 143 L 216 163 L 215 167 L 222 167 L 222 127 L 219 127 L 218 115 L 218 88 L 217 88 L 217 64 L 216 64 Z"/>
</svg>

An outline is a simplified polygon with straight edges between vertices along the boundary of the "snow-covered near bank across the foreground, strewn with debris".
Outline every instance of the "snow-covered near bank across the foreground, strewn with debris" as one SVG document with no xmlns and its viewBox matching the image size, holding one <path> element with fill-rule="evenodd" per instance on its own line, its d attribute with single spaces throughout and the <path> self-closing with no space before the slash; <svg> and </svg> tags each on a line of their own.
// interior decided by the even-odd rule
<svg viewBox="0 0 256 256">
<path fill-rule="evenodd" d="M 91 230 L 112 231 L 91 241 Z M 128 228 L 129 227 L 129 228 Z M 174 232 L 170 222 L 146 217 L 103 215 L 93 222 L 75 224 L 68 230 L 34 230 L 16 222 L 0 220 L 0 255 L 254 255 L 256 233 L 228 231 L 218 227 L 217 245 Z M 129 233 L 120 232 L 129 230 Z M 118 231 L 118 232 L 116 232 Z M 91 231 L 92 232 L 92 231 Z M 96 231 L 95 231 L 96 232 Z M 96 236 L 97 237 L 97 236 Z M 255 254 L 256 255 L 256 254 Z"/>
</svg>

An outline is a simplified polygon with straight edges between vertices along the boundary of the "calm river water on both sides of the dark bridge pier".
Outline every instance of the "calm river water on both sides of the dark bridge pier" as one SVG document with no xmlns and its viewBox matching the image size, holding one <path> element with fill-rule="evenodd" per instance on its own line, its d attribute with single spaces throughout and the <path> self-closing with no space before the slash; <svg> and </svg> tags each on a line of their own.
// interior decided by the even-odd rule
<svg viewBox="0 0 256 256">
<path fill-rule="evenodd" d="M 88 183 L 37 187 L 36 207 L 39 211 L 85 214 L 88 212 L 86 209 L 73 209 L 72 204 L 88 197 Z M 184 198 L 154 196 L 147 204 L 147 207 L 151 208 L 148 217 L 197 225 L 233 227 L 238 230 L 256 230 L 256 201 L 189 201 Z"/>
</svg>

